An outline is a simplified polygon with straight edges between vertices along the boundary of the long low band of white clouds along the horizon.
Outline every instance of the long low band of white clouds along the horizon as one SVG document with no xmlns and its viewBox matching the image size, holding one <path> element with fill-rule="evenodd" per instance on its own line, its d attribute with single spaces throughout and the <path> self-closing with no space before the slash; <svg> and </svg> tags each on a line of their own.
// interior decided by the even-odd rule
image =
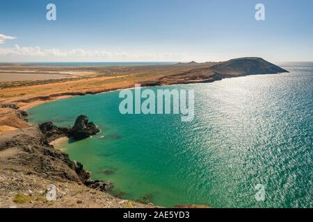
<svg viewBox="0 0 313 222">
<path fill-rule="evenodd" d="M 13 48 L 0 48 L 0 56 L 27 56 L 42 58 L 79 58 L 79 59 L 109 59 L 109 60 L 181 60 L 182 53 L 113 53 L 109 51 L 88 51 L 85 49 L 71 49 L 62 51 L 61 49 L 41 49 L 35 47 L 21 47 L 17 44 Z"/>
</svg>

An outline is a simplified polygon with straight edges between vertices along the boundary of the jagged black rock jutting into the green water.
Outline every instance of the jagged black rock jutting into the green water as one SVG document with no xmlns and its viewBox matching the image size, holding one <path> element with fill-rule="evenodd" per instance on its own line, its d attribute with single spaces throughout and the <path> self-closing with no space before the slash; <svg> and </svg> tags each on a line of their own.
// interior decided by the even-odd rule
<svg viewBox="0 0 313 222">
<path fill-rule="evenodd" d="M 68 133 L 69 137 L 73 139 L 86 139 L 91 135 L 99 133 L 99 128 L 94 123 L 88 121 L 88 117 L 84 115 L 77 117 L 73 128 Z"/>
</svg>

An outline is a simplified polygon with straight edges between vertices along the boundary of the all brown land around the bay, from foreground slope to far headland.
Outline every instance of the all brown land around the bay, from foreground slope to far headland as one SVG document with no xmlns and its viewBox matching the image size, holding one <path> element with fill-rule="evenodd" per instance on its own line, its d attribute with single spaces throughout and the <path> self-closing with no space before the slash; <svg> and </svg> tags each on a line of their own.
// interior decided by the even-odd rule
<svg viewBox="0 0 313 222">
<path fill-rule="evenodd" d="M 106 194 L 105 191 L 113 186 L 110 182 L 90 180 L 90 173 L 82 164 L 70 160 L 67 154 L 51 145 L 61 137 L 79 140 L 99 133 L 99 128 L 90 123 L 88 117 L 79 116 L 72 128 L 59 128 L 51 122 L 31 126 L 27 123 L 25 110 L 34 105 L 69 96 L 134 87 L 134 83 L 143 86 L 211 83 L 223 78 L 288 72 L 262 58 L 88 69 L 97 69 L 99 76 L 0 86 L 0 207 L 152 207 Z M 102 76 L 102 73 L 106 75 Z M 49 184 L 57 187 L 56 201 L 45 199 Z"/>
</svg>

